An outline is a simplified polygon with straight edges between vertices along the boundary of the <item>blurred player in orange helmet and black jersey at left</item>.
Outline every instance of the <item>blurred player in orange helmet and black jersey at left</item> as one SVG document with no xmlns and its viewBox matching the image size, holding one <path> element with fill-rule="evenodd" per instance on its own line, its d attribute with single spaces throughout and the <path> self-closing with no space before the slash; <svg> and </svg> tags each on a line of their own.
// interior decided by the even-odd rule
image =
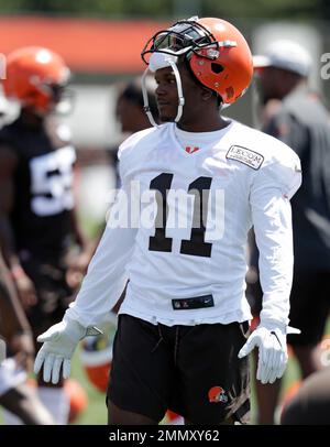
<svg viewBox="0 0 330 447">
<path fill-rule="evenodd" d="M 34 339 L 67 308 L 73 290 L 66 263 L 72 247 L 84 252 L 73 195 L 76 152 L 69 130 L 53 120 L 67 102 L 69 69 L 43 47 L 9 54 L 3 91 L 21 106 L 0 131 L 0 238 L 23 299 Z M 63 382 L 38 378 L 38 395 L 59 424 L 67 422 Z"/>
</svg>

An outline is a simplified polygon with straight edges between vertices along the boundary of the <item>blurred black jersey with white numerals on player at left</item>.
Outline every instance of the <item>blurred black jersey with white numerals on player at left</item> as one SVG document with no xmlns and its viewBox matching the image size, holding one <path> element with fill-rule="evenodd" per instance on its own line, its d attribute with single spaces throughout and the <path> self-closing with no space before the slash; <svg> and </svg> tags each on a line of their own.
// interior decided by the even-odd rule
<svg viewBox="0 0 330 447">
<path fill-rule="evenodd" d="M 0 130 L 0 145 L 14 151 L 11 222 L 16 250 L 58 259 L 70 240 L 75 149 L 63 126 L 31 129 L 20 119 Z"/>
</svg>

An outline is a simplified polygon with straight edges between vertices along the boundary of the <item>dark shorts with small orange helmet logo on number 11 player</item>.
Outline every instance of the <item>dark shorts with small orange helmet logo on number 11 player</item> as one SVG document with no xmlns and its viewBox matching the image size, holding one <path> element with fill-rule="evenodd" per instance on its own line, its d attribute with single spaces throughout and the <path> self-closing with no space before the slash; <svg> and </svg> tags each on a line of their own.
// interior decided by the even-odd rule
<svg viewBox="0 0 330 447">
<path fill-rule="evenodd" d="M 238 353 L 248 332 L 248 323 L 168 327 L 120 315 L 107 399 L 155 422 L 169 408 L 195 424 L 246 423 L 249 361 Z"/>
</svg>

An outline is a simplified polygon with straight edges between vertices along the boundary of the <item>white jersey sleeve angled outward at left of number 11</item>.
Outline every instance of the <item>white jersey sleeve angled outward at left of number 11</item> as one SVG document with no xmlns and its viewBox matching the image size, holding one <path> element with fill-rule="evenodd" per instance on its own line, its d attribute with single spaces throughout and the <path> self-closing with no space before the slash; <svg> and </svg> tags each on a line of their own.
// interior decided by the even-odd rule
<svg viewBox="0 0 330 447">
<path fill-rule="evenodd" d="M 127 264 L 134 249 L 138 227 L 133 226 L 130 182 L 122 173 L 122 187 L 111 207 L 106 230 L 89 264 L 76 301 L 66 317 L 82 326 L 107 323 L 128 281 Z"/>
</svg>

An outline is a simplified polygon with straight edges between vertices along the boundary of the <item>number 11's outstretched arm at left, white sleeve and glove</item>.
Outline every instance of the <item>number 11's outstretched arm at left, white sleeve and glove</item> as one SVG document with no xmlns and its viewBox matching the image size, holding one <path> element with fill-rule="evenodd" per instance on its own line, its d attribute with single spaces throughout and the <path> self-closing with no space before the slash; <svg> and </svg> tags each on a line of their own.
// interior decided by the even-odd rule
<svg viewBox="0 0 330 447">
<path fill-rule="evenodd" d="M 64 319 L 52 326 L 37 340 L 44 342 L 35 359 L 35 372 L 44 367 L 44 380 L 57 383 L 70 373 L 70 358 L 86 335 L 98 335 L 96 325 L 111 319 L 111 309 L 122 293 L 128 276 L 136 228 L 130 225 L 130 192 L 123 187 L 111 208 L 110 217 L 97 251 L 89 264 L 80 292 L 66 310 Z"/>
</svg>

